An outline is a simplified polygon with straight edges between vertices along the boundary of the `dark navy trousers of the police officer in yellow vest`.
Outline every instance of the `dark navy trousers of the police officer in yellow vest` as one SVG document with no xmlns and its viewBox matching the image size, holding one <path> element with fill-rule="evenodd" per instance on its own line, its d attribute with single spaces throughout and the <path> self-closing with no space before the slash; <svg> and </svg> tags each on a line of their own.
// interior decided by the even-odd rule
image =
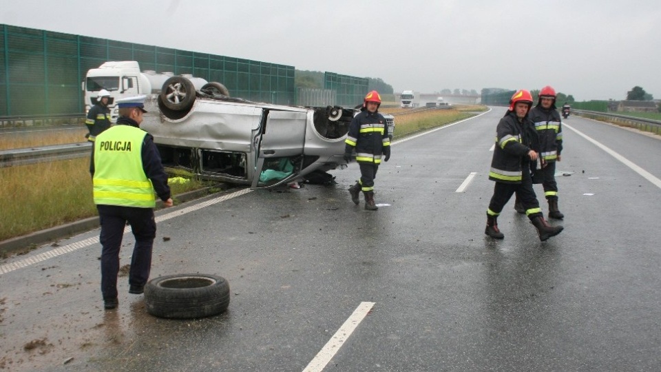
<svg viewBox="0 0 661 372">
<path fill-rule="evenodd" d="M 131 258 L 129 285 L 145 285 L 151 269 L 151 248 L 156 237 L 154 209 L 97 205 L 101 221 L 101 293 L 104 299 L 117 297 L 119 249 L 124 227 L 131 225 L 136 245 Z"/>
</svg>

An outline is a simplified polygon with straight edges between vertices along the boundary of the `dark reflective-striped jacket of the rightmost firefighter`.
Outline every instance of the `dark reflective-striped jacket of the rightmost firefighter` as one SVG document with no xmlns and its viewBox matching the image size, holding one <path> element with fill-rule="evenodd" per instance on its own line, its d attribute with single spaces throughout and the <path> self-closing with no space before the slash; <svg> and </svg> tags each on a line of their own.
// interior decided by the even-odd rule
<svg viewBox="0 0 661 372">
<path fill-rule="evenodd" d="M 556 161 L 563 151 L 563 123 L 555 108 L 532 107 L 528 117 L 539 136 L 540 156 L 547 162 Z"/>
</svg>

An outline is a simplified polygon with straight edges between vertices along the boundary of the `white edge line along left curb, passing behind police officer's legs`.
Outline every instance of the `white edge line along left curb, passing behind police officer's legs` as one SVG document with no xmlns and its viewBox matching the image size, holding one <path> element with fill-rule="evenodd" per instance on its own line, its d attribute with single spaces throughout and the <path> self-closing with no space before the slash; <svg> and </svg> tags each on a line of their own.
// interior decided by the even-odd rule
<svg viewBox="0 0 661 372">
<path fill-rule="evenodd" d="M 241 196 L 243 194 L 247 194 L 251 192 L 251 189 L 246 188 L 242 189 L 238 192 L 233 192 L 231 194 L 226 194 L 223 196 L 220 196 L 218 198 L 213 198 L 205 201 L 204 203 L 199 203 L 196 205 L 191 205 L 190 207 L 186 207 L 183 209 L 179 209 L 177 211 L 172 211 L 167 214 L 163 214 L 162 216 L 156 217 L 156 223 L 160 223 L 165 220 L 169 220 L 170 218 L 175 218 L 178 216 L 182 216 L 184 214 L 190 213 L 191 211 L 197 211 L 198 209 L 202 209 L 204 207 L 209 207 L 209 205 L 214 205 L 216 203 L 220 203 L 224 200 L 229 200 L 231 198 L 235 198 L 237 196 Z M 126 227 L 124 229 L 124 234 L 127 234 L 128 232 L 131 231 L 131 227 Z M 41 254 L 36 254 L 34 256 L 24 258 L 23 260 L 17 261 L 17 262 L 12 262 L 10 264 L 2 265 L 0 266 L 0 275 L 6 274 L 10 271 L 14 271 L 17 269 L 22 269 L 23 267 L 28 267 L 30 265 L 34 265 L 36 263 L 48 260 L 49 258 L 54 258 L 57 256 L 61 256 L 63 254 L 67 254 L 72 251 L 76 251 L 78 249 L 84 248 L 84 247 L 89 247 L 90 245 L 98 243 L 98 236 L 94 236 L 93 238 L 87 238 L 85 240 L 81 240 L 79 242 L 73 242 L 69 245 L 65 245 L 63 247 L 59 247 L 56 249 L 51 249 L 50 251 L 45 251 Z"/>
</svg>

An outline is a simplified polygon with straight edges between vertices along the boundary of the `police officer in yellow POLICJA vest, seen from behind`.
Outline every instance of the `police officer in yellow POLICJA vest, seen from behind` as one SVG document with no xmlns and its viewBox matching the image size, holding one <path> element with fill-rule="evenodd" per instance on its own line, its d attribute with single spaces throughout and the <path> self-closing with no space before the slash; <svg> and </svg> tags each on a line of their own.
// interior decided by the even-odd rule
<svg viewBox="0 0 661 372">
<path fill-rule="evenodd" d="M 154 190 L 172 206 L 167 174 L 151 134 L 140 129 L 145 96 L 117 101 L 117 125 L 96 136 L 90 172 L 94 203 L 101 221 L 101 293 L 105 309 L 117 307 L 119 249 L 124 227 L 131 225 L 136 245 L 129 271 L 129 293 L 143 293 L 156 237 Z"/>
</svg>

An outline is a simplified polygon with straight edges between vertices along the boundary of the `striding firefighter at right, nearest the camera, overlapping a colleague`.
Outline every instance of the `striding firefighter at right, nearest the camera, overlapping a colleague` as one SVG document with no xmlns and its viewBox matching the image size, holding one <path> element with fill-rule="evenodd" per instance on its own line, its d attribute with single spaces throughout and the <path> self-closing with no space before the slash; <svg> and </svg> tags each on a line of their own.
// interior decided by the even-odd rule
<svg viewBox="0 0 661 372">
<path fill-rule="evenodd" d="M 496 147 L 491 161 L 489 179 L 496 181 L 494 195 L 487 209 L 485 234 L 492 238 L 505 237 L 498 228 L 497 218 L 507 201 L 516 196 L 536 227 L 539 239 L 544 241 L 563 231 L 562 226 L 552 227 L 544 219 L 530 175 L 530 162 L 537 161 L 538 138 L 528 112 L 532 96 L 527 90 L 519 90 L 510 99 L 510 110 L 496 127 Z"/>
</svg>

